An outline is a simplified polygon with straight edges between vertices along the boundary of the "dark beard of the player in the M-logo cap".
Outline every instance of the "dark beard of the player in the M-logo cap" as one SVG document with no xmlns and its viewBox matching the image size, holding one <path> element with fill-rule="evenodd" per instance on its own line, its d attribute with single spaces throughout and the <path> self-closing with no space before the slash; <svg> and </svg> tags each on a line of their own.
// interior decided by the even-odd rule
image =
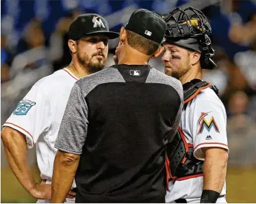
<svg viewBox="0 0 256 204">
<path fill-rule="evenodd" d="M 88 72 L 90 72 L 90 74 L 101 71 L 105 67 L 105 64 L 107 61 L 107 59 L 105 59 L 105 55 L 102 52 L 93 53 L 92 57 L 94 57 L 95 55 L 103 55 L 104 59 L 99 60 L 99 62 L 97 62 L 97 63 L 93 63 L 92 58 L 89 59 L 88 55 L 85 54 L 85 57 L 83 59 L 80 56 L 79 51 L 77 52 L 77 60 L 78 60 L 79 64 L 82 65 L 83 67 L 87 67 L 87 70 L 88 70 Z M 86 61 L 89 61 L 89 60 L 90 60 L 90 62 L 87 64 Z"/>
</svg>

